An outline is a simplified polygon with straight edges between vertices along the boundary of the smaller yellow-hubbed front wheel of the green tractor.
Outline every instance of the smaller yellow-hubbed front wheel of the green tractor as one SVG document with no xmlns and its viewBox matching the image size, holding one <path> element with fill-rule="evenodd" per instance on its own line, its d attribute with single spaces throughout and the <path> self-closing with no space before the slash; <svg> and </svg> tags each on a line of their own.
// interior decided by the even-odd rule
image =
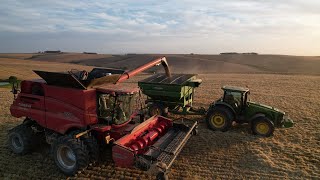
<svg viewBox="0 0 320 180">
<path fill-rule="evenodd" d="M 253 134 L 269 137 L 273 134 L 274 124 L 267 117 L 259 117 L 252 122 Z"/>
</svg>

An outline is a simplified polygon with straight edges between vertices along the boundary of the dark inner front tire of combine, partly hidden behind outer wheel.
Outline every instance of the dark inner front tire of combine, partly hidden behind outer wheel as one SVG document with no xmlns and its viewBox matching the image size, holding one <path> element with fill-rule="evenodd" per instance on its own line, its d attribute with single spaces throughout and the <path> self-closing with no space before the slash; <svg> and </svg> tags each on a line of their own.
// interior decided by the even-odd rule
<svg viewBox="0 0 320 180">
<path fill-rule="evenodd" d="M 83 143 L 88 148 L 90 163 L 97 162 L 99 160 L 100 150 L 99 150 L 99 145 L 98 145 L 98 141 L 96 140 L 96 138 L 94 136 L 92 136 L 91 134 L 88 134 L 85 136 L 81 136 L 80 139 L 83 140 Z"/>
</svg>

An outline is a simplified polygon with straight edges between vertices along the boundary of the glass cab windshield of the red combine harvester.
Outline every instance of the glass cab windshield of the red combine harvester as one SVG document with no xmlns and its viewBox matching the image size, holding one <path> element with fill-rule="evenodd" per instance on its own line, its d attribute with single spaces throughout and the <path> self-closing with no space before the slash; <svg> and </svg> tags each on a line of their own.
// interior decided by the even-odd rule
<svg viewBox="0 0 320 180">
<path fill-rule="evenodd" d="M 100 95 L 99 115 L 110 124 L 123 124 L 130 119 L 134 109 L 135 95 Z"/>
</svg>

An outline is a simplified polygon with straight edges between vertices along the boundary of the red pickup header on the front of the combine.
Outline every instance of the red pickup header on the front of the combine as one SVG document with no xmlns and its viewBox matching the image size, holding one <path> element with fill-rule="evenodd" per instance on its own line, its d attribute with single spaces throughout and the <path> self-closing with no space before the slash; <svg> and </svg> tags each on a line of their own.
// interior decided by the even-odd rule
<svg viewBox="0 0 320 180">
<path fill-rule="evenodd" d="M 162 116 L 153 116 L 113 146 L 113 160 L 118 166 L 136 166 L 150 173 L 166 173 L 195 130 Z"/>
</svg>

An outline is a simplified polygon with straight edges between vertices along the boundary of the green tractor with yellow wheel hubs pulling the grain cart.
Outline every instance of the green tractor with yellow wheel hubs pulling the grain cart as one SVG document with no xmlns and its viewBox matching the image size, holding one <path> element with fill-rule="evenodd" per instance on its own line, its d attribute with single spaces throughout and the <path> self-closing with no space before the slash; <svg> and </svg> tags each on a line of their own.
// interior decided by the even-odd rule
<svg viewBox="0 0 320 180">
<path fill-rule="evenodd" d="M 252 133 L 260 136 L 271 136 L 275 127 L 292 127 L 293 121 L 285 112 L 249 101 L 248 88 L 223 86 L 222 98 L 210 104 L 206 121 L 210 129 L 227 131 L 232 122 L 248 123 Z"/>
</svg>

